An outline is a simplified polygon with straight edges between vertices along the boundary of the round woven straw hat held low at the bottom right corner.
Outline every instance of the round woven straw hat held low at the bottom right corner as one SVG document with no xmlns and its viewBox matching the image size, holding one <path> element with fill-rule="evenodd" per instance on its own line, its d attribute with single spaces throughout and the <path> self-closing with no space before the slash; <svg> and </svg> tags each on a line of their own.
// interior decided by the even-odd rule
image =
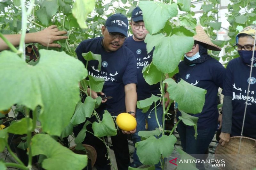
<svg viewBox="0 0 256 170">
<path fill-rule="evenodd" d="M 225 167 L 220 169 L 248 170 L 256 167 L 256 148 L 253 147 L 255 139 L 242 137 L 241 147 L 238 155 L 240 137 L 230 137 L 224 146 L 218 144 L 215 149 L 215 159 L 224 159 Z"/>
</svg>

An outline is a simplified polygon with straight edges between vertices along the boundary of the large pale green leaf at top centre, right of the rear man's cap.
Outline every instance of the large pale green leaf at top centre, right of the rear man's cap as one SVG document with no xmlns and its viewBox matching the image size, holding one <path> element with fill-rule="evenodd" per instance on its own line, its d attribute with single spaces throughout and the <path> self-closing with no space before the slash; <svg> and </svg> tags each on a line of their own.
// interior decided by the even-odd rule
<svg viewBox="0 0 256 170">
<path fill-rule="evenodd" d="M 154 1 L 140 1 L 139 7 L 143 11 L 143 20 L 150 34 L 159 32 L 169 18 L 178 15 L 176 3 L 169 5 Z"/>
</svg>

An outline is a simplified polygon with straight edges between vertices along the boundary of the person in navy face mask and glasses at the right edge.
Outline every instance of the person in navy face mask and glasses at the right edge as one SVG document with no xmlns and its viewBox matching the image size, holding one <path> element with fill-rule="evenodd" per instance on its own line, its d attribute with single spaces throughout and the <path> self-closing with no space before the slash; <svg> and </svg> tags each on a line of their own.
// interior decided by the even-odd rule
<svg viewBox="0 0 256 170">
<path fill-rule="evenodd" d="M 256 139 L 255 30 L 256 25 L 247 26 L 236 35 L 234 48 L 240 57 L 229 61 L 227 66 L 222 91 L 224 95 L 223 123 L 219 141 L 222 146 L 229 142 L 231 136 Z M 250 76 L 251 69 L 252 75 Z M 250 89 L 248 90 L 249 85 Z"/>
</svg>

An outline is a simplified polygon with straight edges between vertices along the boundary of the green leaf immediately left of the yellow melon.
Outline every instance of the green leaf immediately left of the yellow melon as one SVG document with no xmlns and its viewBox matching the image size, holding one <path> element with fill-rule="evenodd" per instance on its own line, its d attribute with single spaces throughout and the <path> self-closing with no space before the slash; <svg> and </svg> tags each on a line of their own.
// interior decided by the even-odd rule
<svg viewBox="0 0 256 170">
<path fill-rule="evenodd" d="M 117 134 L 114 120 L 107 110 L 103 114 L 102 122 L 92 123 L 92 129 L 94 136 L 97 137 L 115 136 Z"/>
</svg>

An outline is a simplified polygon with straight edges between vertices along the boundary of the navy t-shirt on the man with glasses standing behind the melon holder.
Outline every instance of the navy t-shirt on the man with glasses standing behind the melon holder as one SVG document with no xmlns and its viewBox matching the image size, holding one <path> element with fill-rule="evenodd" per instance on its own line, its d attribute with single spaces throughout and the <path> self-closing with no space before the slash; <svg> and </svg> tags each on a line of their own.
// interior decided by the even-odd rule
<svg viewBox="0 0 256 170">
<path fill-rule="evenodd" d="M 129 48 L 136 56 L 138 75 L 138 101 L 151 97 L 151 94 L 160 94 L 160 83 L 157 83 L 155 85 L 149 85 L 145 81 L 142 74 L 142 69 L 152 62 L 153 50 L 148 53 L 146 43 L 144 41 L 135 41 L 133 40 L 132 36 L 128 37 L 127 40 L 124 41 L 124 45 Z"/>
</svg>

